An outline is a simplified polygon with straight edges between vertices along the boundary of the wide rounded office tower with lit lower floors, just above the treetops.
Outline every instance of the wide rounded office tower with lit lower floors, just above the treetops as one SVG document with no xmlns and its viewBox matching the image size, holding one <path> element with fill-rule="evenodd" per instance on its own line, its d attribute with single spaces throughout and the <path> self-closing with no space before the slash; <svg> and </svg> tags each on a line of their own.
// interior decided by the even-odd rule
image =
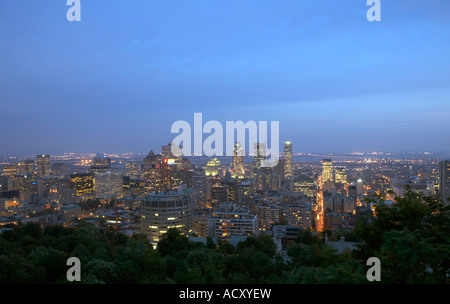
<svg viewBox="0 0 450 304">
<path fill-rule="evenodd" d="M 192 229 L 195 191 L 151 193 L 141 203 L 142 233 L 145 234 L 153 246 L 170 228 L 177 228 L 187 234 Z"/>
</svg>

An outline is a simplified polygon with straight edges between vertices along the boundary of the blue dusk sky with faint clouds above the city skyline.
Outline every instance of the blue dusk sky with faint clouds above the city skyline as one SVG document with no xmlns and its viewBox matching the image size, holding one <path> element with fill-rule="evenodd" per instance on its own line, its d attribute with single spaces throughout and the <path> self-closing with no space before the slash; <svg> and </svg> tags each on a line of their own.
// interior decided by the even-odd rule
<svg viewBox="0 0 450 304">
<path fill-rule="evenodd" d="M 450 152 L 450 1 L 0 0 L 0 155 L 160 151 L 279 121 L 294 152 Z"/>
</svg>

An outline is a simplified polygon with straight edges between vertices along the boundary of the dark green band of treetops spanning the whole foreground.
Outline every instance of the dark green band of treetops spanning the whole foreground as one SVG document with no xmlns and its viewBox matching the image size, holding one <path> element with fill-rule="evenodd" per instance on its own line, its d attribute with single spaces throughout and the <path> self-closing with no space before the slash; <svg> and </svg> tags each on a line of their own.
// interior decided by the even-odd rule
<svg viewBox="0 0 450 304">
<path fill-rule="evenodd" d="M 170 229 L 156 249 L 143 235 L 126 237 L 80 223 L 77 229 L 19 224 L 0 235 L 0 283 L 71 283 L 69 257 L 81 261 L 81 283 L 230 284 L 368 283 L 369 257 L 381 260 L 380 283 L 445 283 L 450 265 L 449 208 L 436 198 L 408 193 L 393 207 L 379 205 L 346 235 L 357 250 L 338 254 L 322 235 L 300 231 L 276 254 L 268 235 L 234 247 L 194 243 Z M 329 235 L 337 239 L 339 233 Z"/>
</svg>

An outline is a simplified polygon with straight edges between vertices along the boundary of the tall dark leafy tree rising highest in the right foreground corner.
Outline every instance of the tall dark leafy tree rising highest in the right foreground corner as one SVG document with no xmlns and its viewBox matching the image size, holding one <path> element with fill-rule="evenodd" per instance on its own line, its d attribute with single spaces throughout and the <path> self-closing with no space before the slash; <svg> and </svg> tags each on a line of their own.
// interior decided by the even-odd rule
<svg viewBox="0 0 450 304">
<path fill-rule="evenodd" d="M 384 283 L 445 283 L 450 268 L 450 207 L 438 197 L 407 189 L 397 203 L 383 202 L 375 216 L 361 219 L 364 244 L 356 257 L 380 258 Z"/>
</svg>

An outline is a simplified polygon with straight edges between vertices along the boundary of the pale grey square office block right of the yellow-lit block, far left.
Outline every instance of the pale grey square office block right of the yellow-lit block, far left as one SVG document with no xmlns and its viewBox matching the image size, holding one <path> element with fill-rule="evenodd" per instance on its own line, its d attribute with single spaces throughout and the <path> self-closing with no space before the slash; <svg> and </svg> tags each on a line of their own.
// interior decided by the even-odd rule
<svg viewBox="0 0 450 304">
<path fill-rule="evenodd" d="M 97 198 L 123 196 L 123 174 L 120 172 L 97 172 L 94 175 L 94 183 Z"/>
</svg>

